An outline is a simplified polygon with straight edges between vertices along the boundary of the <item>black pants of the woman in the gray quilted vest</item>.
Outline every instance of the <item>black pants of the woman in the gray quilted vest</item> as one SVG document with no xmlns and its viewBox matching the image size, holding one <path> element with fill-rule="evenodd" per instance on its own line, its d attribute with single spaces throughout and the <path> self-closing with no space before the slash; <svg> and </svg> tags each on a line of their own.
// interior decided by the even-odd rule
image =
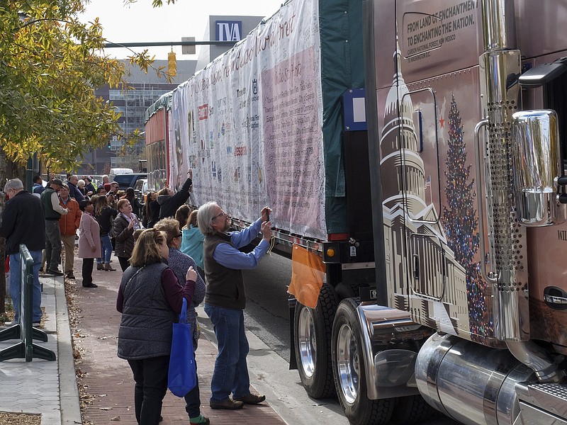
<svg viewBox="0 0 567 425">
<path fill-rule="evenodd" d="M 129 360 L 134 373 L 134 405 L 140 425 L 157 425 L 162 414 L 162 402 L 167 392 L 169 356 Z"/>
</svg>

